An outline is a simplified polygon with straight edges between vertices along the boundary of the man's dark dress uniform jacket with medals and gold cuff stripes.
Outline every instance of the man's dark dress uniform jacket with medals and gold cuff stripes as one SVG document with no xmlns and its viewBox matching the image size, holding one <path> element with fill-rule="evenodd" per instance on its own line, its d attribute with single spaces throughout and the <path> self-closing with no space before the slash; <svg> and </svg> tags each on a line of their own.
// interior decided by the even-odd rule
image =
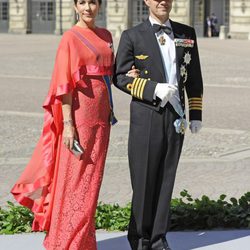
<svg viewBox="0 0 250 250">
<path fill-rule="evenodd" d="M 176 72 L 181 104 L 184 109 L 186 89 L 190 120 L 202 120 L 203 82 L 196 34 L 192 27 L 170 22 L 176 44 Z M 185 41 L 190 40 L 194 42 L 193 45 L 185 44 Z M 191 55 L 188 65 L 184 62 L 185 53 Z M 133 65 L 140 70 L 139 78 L 126 76 Z M 115 72 L 114 84 L 132 95 L 132 101 L 159 110 L 160 102 L 154 100 L 153 95 L 156 84 L 166 82 L 166 77 L 159 45 L 149 20 L 122 33 Z"/>
</svg>

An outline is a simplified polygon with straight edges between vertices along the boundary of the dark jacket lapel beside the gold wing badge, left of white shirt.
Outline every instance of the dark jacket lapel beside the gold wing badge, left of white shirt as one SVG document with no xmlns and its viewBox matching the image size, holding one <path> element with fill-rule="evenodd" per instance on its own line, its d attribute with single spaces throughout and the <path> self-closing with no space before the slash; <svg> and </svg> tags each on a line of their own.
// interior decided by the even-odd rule
<svg viewBox="0 0 250 250">
<path fill-rule="evenodd" d="M 147 53 L 150 56 L 150 58 L 152 58 L 153 61 L 152 64 L 155 65 L 156 70 L 160 72 L 162 79 L 166 81 L 160 48 L 156 40 L 155 33 L 151 28 L 151 23 L 149 19 L 147 19 L 143 23 L 141 32 L 142 32 L 141 36 L 143 37 L 147 48 Z"/>
</svg>

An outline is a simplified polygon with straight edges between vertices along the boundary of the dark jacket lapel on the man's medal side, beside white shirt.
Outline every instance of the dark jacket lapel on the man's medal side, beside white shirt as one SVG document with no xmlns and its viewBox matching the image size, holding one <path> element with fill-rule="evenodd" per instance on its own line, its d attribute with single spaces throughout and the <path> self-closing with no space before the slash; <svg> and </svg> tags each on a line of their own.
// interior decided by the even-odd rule
<svg viewBox="0 0 250 250">
<path fill-rule="evenodd" d="M 174 38 L 185 38 L 185 34 L 182 33 L 175 22 L 173 22 L 172 20 L 170 20 L 171 23 L 171 27 L 173 29 L 173 33 L 174 33 Z M 175 51 L 176 51 L 176 74 L 177 74 L 177 81 L 178 83 L 180 83 L 180 67 L 181 67 L 181 61 L 183 60 L 183 54 L 184 54 L 184 47 L 177 47 L 175 45 Z"/>
</svg>

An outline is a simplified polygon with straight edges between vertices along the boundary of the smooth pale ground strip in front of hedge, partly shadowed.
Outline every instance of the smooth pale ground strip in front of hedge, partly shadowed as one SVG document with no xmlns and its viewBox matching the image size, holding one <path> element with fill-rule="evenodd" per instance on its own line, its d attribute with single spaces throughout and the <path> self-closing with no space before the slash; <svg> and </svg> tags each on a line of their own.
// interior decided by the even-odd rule
<svg viewBox="0 0 250 250">
<path fill-rule="evenodd" d="M 98 250 L 129 250 L 127 232 L 96 233 Z M 173 250 L 249 250 L 249 230 L 169 232 Z M 0 235 L 0 250 L 44 250 L 43 233 Z"/>
</svg>

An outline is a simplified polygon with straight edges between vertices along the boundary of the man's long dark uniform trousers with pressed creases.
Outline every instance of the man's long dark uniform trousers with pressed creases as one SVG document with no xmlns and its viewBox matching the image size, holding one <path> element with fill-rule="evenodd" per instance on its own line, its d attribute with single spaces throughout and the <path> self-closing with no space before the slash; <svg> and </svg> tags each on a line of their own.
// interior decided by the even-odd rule
<svg viewBox="0 0 250 250">
<path fill-rule="evenodd" d="M 131 102 L 128 143 L 133 189 L 128 240 L 133 250 L 147 249 L 168 230 L 171 196 L 184 136 L 168 103 L 160 111 Z"/>
</svg>

